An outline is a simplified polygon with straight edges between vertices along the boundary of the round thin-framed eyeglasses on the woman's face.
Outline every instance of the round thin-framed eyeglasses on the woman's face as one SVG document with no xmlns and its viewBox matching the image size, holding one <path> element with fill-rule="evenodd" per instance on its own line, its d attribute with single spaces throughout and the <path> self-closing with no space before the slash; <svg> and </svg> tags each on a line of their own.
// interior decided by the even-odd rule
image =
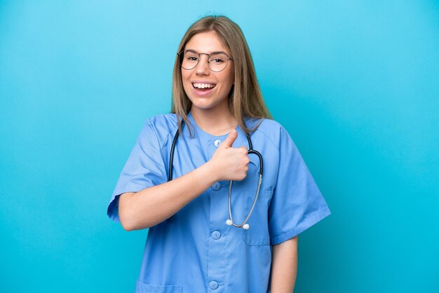
<svg viewBox="0 0 439 293">
<path fill-rule="evenodd" d="M 229 60 L 233 61 L 229 55 L 222 51 L 208 54 L 198 53 L 196 50 L 182 50 L 180 53 L 177 53 L 177 55 L 180 60 L 180 66 L 186 70 L 191 70 L 196 67 L 200 61 L 200 55 L 208 55 L 208 67 L 214 72 L 223 71 L 227 67 Z"/>
</svg>

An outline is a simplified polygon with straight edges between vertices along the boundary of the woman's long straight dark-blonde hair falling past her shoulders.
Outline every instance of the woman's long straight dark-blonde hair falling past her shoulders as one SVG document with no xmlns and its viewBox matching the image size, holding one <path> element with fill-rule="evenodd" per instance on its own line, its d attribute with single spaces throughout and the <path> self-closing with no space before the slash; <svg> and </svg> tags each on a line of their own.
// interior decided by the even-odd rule
<svg viewBox="0 0 439 293">
<path fill-rule="evenodd" d="M 234 60 L 231 64 L 234 65 L 235 69 L 235 84 L 229 93 L 229 108 L 236 122 L 245 133 L 255 131 L 262 120 L 248 128 L 244 123 L 244 118 L 271 118 L 271 114 L 262 97 L 250 49 L 241 28 L 225 16 L 206 16 L 189 27 L 180 42 L 177 52 L 184 50 L 192 36 L 201 32 L 215 32 L 219 40 L 230 50 L 231 58 Z M 192 135 L 191 128 L 193 129 L 194 126 L 191 125 L 187 117 L 191 105 L 191 100 L 184 92 L 180 61 L 176 56 L 171 113 L 177 115 L 178 131 L 180 133 L 182 131 L 180 121 L 183 120 L 184 123 L 189 125 L 189 133 Z"/>
</svg>

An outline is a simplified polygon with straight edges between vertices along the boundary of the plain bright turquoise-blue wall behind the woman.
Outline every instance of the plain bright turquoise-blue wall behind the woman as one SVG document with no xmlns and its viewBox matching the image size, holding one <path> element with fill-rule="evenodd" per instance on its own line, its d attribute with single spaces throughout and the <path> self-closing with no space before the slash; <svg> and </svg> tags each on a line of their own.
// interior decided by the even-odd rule
<svg viewBox="0 0 439 293">
<path fill-rule="evenodd" d="M 0 292 L 133 292 L 147 231 L 107 203 L 173 61 L 238 23 L 332 215 L 295 292 L 439 292 L 438 1 L 1 1 Z"/>
</svg>

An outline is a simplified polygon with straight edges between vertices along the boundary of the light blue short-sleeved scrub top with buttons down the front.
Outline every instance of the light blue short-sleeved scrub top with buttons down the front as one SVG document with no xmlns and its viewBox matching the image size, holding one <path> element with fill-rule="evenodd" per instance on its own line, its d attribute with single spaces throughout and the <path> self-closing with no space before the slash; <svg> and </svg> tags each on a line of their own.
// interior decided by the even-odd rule
<svg viewBox="0 0 439 293">
<path fill-rule="evenodd" d="M 173 178 L 191 172 L 212 158 L 227 135 L 201 130 L 189 113 L 188 126 L 177 140 Z M 246 119 L 246 125 L 257 122 Z M 175 114 L 154 116 L 144 123 L 123 167 L 107 214 L 119 222 L 119 196 L 168 180 L 168 162 L 177 132 Z M 237 127 L 233 147 L 245 146 Z M 227 226 L 229 181 L 220 181 L 166 221 L 149 229 L 136 293 L 267 292 L 271 246 L 297 236 L 330 214 L 302 156 L 288 132 L 276 121 L 263 119 L 251 134 L 253 149 L 264 159 L 259 197 L 248 221 L 250 229 Z M 250 154 L 247 177 L 234 182 L 232 212 L 242 223 L 256 194 L 259 159 Z M 157 194 L 157 196 L 160 196 Z"/>
</svg>

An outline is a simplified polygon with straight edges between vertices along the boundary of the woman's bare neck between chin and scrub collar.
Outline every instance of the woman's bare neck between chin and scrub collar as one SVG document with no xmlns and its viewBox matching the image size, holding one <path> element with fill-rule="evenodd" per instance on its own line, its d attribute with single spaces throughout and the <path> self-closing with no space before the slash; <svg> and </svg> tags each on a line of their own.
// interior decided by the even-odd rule
<svg viewBox="0 0 439 293">
<path fill-rule="evenodd" d="M 225 135 L 236 128 L 236 120 L 228 107 L 214 107 L 213 109 L 191 108 L 191 114 L 196 124 L 210 135 Z"/>
</svg>

